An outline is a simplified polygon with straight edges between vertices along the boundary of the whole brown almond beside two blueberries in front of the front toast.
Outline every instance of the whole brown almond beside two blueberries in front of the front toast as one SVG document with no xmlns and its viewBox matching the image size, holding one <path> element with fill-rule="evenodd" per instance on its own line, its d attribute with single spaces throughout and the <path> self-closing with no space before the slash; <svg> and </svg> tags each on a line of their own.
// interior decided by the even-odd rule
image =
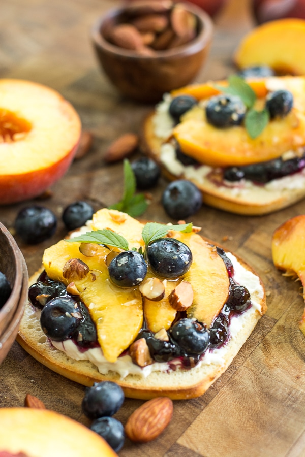
<svg viewBox="0 0 305 457">
<path fill-rule="evenodd" d="M 129 417 L 126 436 L 134 442 L 146 443 L 157 438 L 168 426 L 173 415 L 173 402 L 167 397 L 157 397 L 143 403 Z"/>
</svg>

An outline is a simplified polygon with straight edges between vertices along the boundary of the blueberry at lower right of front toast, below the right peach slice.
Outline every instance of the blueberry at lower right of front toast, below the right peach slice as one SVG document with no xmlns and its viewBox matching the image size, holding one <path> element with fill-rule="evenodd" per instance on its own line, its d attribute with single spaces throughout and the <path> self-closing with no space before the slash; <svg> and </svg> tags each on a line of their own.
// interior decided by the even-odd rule
<svg viewBox="0 0 305 457">
<path fill-rule="evenodd" d="M 203 354 L 209 344 L 208 331 L 194 319 L 180 319 L 169 330 L 169 334 L 188 354 Z"/>
</svg>

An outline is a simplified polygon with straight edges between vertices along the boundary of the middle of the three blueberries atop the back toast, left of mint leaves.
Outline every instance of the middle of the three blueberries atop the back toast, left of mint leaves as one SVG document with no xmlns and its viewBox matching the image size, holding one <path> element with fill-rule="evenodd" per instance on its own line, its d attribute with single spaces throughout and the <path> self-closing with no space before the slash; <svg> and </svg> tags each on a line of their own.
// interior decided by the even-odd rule
<svg viewBox="0 0 305 457">
<path fill-rule="evenodd" d="M 247 108 L 237 95 L 220 94 L 211 97 L 205 107 L 206 120 L 215 127 L 240 125 Z"/>
</svg>

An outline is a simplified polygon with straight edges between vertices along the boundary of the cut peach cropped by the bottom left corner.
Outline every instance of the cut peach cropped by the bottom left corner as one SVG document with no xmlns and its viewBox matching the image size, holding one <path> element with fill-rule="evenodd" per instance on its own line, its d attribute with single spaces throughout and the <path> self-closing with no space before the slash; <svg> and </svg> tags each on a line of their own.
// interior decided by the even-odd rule
<svg viewBox="0 0 305 457">
<path fill-rule="evenodd" d="M 1 408 L 0 454 L 35 457 L 81 457 L 117 454 L 97 433 L 47 409 Z"/>
</svg>

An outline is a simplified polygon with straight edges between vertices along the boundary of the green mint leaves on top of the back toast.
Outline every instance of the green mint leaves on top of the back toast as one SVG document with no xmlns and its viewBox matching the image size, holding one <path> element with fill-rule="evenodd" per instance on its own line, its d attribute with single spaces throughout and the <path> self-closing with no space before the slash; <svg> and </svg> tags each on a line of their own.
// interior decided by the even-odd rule
<svg viewBox="0 0 305 457">
<path fill-rule="evenodd" d="M 254 140 L 268 124 L 269 113 L 266 109 L 258 111 L 253 108 L 256 101 L 256 94 L 243 78 L 237 75 L 231 75 L 228 77 L 228 83 L 228 86 L 217 84 L 215 87 L 221 92 L 239 96 L 242 102 L 245 103 L 248 108 L 245 116 L 245 128 L 248 135 Z"/>
</svg>

